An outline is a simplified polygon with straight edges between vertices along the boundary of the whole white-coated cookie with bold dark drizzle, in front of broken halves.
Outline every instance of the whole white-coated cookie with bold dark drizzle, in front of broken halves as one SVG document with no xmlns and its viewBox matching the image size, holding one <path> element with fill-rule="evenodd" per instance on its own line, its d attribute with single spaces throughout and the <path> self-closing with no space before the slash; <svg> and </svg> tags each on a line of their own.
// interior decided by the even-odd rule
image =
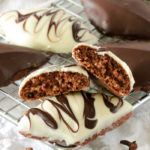
<svg viewBox="0 0 150 150">
<path fill-rule="evenodd" d="M 123 124 L 132 106 L 117 97 L 84 92 L 50 97 L 25 112 L 18 131 L 25 137 L 85 145 Z"/>
</svg>

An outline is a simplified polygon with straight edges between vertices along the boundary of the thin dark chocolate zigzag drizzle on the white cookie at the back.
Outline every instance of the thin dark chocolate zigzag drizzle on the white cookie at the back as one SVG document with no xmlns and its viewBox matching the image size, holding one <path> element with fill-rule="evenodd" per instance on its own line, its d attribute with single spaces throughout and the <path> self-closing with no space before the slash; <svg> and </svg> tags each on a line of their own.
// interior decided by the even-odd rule
<svg viewBox="0 0 150 150">
<path fill-rule="evenodd" d="M 72 23 L 72 36 L 73 36 L 74 40 L 76 42 L 85 42 L 85 40 L 82 40 L 82 38 L 84 37 L 86 32 L 90 32 L 90 31 L 86 28 L 81 27 L 81 22 L 79 20 L 77 20 L 74 16 L 67 15 L 66 17 L 64 17 L 66 12 L 62 9 L 50 9 L 50 10 L 46 10 L 44 12 L 43 11 L 44 10 L 38 10 L 38 11 L 34 11 L 34 12 L 31 12 L 28 14 L 22 14 L 19 11 L 15 11 L 18 15 L 18 18 L 15 21 L 16 21 L 16 23 L 23 22 L 24 31 L 31 32 L 31 31 L 28 31 L 26 24 L 28 22 L 28 19 L 31 16 L 34 16 L 34 18 L 37 20 L 37 22 L 33 28 L 34 29 L 33 32 L 37 33 L 40 30 L 42 30 L 42 28 L 43 28 L 43 26 L 41 28 L 39 28 L 39 26 L 41 25 L 42 18 L 44 18 L 45 16 L 46 17 L 51 16 L 51 18 L 49 19 L 49 23 L 48 23 L 49 25 L 48 25 L 48 29 L 47 29 L 47 38 L 51 42 L 59 41 L 60 37 L 65 32 L 65 30 L 60 29 L 60 25 L 62 25 L 61 28 L 63 29 L 67 23 L 73 22 Z M 38 15 L 38 13 L 42 13 L 42 14 Z M 4 13 L 4 14 L 6 14 L 6 13 Z M 60 17 L 58 19 L 59 14 L 60 14 Z M 57 39 L 55 39 L 55 40 L 52 40 L 52 38 L 51 38 L 51 30 L 53 29 L 53 27 L 55 30 L 55 36 L 57 37 Z M 79 35 L 80 31 L 83 31 L 83 33 Z"/>
</svg>

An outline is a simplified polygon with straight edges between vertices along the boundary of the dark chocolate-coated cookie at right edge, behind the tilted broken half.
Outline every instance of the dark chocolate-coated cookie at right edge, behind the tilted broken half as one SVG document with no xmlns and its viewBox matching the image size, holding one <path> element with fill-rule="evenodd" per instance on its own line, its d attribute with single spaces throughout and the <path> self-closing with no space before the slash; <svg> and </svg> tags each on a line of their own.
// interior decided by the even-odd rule
<svg viewBox="0 0 150 150">
<path fill-rule="evenodd" d="M 135 79 L 134 89 L 150 91 L 150 42 L 107 43 L 101 47 L 127 63 Z"/>
</svg>

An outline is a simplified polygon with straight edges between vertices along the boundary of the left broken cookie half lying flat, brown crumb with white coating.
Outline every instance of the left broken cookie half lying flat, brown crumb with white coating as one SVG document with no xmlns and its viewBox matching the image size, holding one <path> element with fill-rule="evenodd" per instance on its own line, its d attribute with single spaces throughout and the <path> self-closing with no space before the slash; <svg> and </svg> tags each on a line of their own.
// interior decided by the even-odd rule
<svg viewBox="0 0 150 150">
<path fill-rule="evenodd" d="M 80 91 L 86 89 L 89 83 L 88 73 L 81 66 L 50 66 L 25 78 L 19 95 L 22 99 L 37 100 Z"/>
</svg>

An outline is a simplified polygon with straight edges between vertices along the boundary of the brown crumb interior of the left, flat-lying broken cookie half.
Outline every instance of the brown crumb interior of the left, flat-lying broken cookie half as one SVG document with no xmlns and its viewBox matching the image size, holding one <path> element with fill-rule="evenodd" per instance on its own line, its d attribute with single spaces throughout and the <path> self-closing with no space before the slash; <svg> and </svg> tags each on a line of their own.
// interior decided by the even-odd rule
<svg viewBox="0 0 150 150">
<path fill-rule="evenodd" d="M 48 72 L 31 78 L 22 88 L 23 99 L 39 99 L 80 91 L 89 86 L 89 79 L 77 72 Z"/>
</svg>

